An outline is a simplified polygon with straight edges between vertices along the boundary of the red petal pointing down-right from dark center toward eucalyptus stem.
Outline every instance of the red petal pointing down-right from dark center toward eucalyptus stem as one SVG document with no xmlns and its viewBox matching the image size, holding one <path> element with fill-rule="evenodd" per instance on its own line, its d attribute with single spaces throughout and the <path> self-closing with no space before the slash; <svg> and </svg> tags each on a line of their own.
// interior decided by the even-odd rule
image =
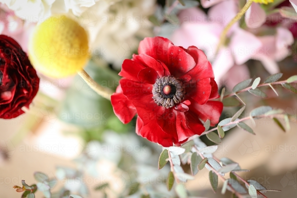
<svg viewBox="0 0 297 198">
<path fill-rule="evenodd" d="M 176 129 L 179 142 L 182 142 L 195 134 L 200 135 L 205 130 L 201 122 L 189 122 L 188 119 L 186 119 L 185 114 L 181 112 L 176 112 Z"/>
</svg>

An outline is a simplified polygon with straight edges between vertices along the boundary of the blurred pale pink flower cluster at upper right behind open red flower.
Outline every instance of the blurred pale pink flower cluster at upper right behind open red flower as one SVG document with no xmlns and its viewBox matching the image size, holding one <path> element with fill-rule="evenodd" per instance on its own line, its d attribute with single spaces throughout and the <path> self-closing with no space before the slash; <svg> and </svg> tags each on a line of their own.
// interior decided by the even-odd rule
<svg viewBox="0 0 297 198">
<path fill-rule="evenodd" d="M 185 9 L 179 14 L 181 27 L 170 38 L 182 47 L 195 45 L 202 49 L 212 62 L 218 84 L 232 66 L 242 65 L 249 59 L 259 60 L 268 72 L 277 73 L 277 61 L 289 55 L 287 47 L 294 41 L 292 33 L 284 27 L 278 27 L 274 35 L 253 34 L 265 29 L 266 14 L 260 6 L 252 4 L 245 17 L 249 28 L 242 29 L 235 23 L 227 34 L 230 42 L 217 51 L 222 30 L 238 11 L 235 0 L 219 2 L 208 10 L 208 15 L 199 8 Z"/>
</svg>

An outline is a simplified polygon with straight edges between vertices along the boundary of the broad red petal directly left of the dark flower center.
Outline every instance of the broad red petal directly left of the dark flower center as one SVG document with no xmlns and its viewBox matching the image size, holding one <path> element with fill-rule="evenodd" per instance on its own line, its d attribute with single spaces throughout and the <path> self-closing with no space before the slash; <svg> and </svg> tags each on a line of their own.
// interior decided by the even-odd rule
<svg viewBox="0 0 297 198">
<path fill-rule="evenodd" d="M 136 82 L 122 78 L 120 80 L 120 85 L 123 90 L 123 94 L 127 96 L 129 100 L 141 100 L 143 96 L 153 96 L 151 92 L 153 85 L 151 84 Z M 153 99 L 151 99 L 151 101 L 154 102 Z"/>
</svg>

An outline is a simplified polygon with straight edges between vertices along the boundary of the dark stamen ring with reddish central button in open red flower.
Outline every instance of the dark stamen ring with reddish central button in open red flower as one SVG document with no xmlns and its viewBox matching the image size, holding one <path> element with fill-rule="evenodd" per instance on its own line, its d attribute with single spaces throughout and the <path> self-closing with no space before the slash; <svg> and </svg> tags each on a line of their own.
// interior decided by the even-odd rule
<svg viewBox="0 0 297 198">
<path fill-rule="evenodd" d="M 173 76 L 164 76 L 153 85 L 153 99 L 159 106 L 169 108 L 184 99 L 183 83 Z"/>
</svg>

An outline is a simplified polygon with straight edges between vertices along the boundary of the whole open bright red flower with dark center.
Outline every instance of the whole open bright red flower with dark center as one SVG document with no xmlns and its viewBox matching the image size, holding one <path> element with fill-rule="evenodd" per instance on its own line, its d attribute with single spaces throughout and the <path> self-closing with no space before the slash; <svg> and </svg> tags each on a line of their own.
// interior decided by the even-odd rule
<svg viewBox="0 0 297 198">
<path fill-rule="evenodd" d="M 163 37 L 145 38 L 139 55 L 124 60 L 120 84 L 111 96 L 117 117 L 128 123 L 138 114 L 136 133 L 169 147 L 200 135 L 201 123 L 219 122 L 223 104 L 211 63 L 195 46 L 173 45 Z"/>
</svg>

